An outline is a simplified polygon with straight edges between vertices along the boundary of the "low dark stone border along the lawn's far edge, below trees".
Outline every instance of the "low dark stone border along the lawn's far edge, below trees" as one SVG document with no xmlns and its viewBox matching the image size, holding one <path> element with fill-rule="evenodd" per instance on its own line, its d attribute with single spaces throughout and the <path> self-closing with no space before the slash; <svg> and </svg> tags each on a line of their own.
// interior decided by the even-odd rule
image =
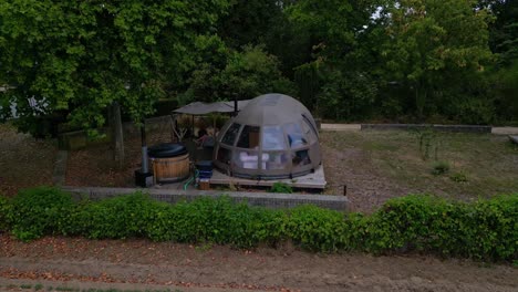
<svg viewBox="0 0 518 292">
<path fill-rule="evenodd" d="M 361 129 L 413 129 L 433 128 L 441 132 L 452 133 L 491 133 L 491 126 L 478 125 L 434 125 L 434 124 L 362 124 Z"/>
</svg>

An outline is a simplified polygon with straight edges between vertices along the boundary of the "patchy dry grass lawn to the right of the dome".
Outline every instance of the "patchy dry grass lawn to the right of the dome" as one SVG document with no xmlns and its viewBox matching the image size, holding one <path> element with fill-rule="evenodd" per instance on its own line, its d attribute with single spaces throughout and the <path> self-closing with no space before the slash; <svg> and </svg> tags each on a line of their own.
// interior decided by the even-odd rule
<svg viewBox="0 0 518 292">
<path fill-rule="evenodd" d="M 324 132 L 321 136 L 327 147 L 360 152 L 364 159 L 352 167 L 371 168 L 380 179 L 408 192 L 455 199 L 518 192 L 518 147 L 507 136 L 434 132 L 421 149 L 415 132 Z M 433 175 L 437 161 L 447 164 L 449 170 Z"/>
</svg>

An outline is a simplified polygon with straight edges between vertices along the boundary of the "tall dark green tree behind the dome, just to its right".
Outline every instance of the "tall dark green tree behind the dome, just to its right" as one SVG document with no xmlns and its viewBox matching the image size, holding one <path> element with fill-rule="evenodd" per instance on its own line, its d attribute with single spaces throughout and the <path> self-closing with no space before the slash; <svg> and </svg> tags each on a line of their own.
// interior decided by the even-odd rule
<svg viewBox="0 0 518 292">
<path fill-rule="evenodd" d="M 376 2 L 294 1 L 286 12 L 296 35 L 308 39 L 308 58 L 294 67 L 301 100 L 311 109 L 338 119 L 367 112 L 377 92 L 362 41 L 372 30 Z M 308 50 L 309 48 L 309 50 Z M 366 49 L 366 50 L 365 50 Z M 360 109 L 360 111 L 358 111 Z"/>
</svg>

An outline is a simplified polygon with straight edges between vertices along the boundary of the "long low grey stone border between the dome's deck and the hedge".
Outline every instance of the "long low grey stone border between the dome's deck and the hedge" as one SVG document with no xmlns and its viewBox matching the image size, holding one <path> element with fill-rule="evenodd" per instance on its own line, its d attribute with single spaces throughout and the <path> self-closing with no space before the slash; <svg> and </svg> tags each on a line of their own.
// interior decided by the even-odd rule
<svg viewBox="0 0 518 292">
<path fill-rule="evenodd" d="M 92 200 L 112 198 L 135 191 L 143 191 L 156 200 L 176 204 L 183 200 L 191 201 L 197 198 L 218 198 L 228 196 L 235 202 L 246 201 L 250 206 L 267 207 L 273 209 L 293 208 L 301 205 L 314 205 L 321 208 L 346 211 L 349 200 L 343 196 L 329 195 L 298 195 L 273 192 L 245 192 L 245 191 L 215 191 L 215 190 L 176 190 L 176 189 L 143 189 L 143 188 L 97 188 L 97 187 L 63 187 L 63 190 L 72 192 L 76 198 L 86 197 Z"/>
</svg>

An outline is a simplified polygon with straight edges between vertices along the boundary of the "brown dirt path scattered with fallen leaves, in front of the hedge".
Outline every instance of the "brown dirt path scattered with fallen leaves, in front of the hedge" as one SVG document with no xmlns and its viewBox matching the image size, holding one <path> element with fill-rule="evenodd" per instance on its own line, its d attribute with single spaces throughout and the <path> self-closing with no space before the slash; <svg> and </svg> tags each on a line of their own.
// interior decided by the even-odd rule
<svg viewBox="0 0 518 292">
<path fill-rule="evenodd" d="M 20 243 L 0 236 L 0 283 L 155 284 L 185 291 L 516 291 L 507 265 L 429 257 L 314 254 L 290 247 L 255 251 L 146 240 L 45 238 Z M 54 284 L 55 286 L 55 284 Z"/>
</svg>

